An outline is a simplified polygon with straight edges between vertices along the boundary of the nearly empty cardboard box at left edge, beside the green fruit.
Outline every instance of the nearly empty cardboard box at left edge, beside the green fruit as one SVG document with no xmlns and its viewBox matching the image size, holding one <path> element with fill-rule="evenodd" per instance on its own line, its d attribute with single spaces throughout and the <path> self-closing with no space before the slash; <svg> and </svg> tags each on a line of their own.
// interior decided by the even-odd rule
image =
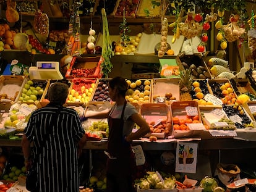
<svg viewBox="0 0 256 192">
<path fill-rule="evenodd" d="M 11 102 L 19 99 L 19 93 L 23 87 L 25 77 L 22 75 L 1 75 L 0 77 L 0 95 L 7 94 L 6 99 L 0 102 Z"/>
</svg>

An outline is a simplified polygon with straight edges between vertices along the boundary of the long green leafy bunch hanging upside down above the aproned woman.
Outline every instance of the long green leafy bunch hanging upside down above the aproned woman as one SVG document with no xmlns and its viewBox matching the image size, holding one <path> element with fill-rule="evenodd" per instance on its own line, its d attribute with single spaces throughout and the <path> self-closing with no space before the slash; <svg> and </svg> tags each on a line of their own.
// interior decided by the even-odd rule
<svg viewBox="0 0 256 192">
<path fill-rule="evenodd" d="M 103 62 L 101 62 L 101 72 L 108 78 L 108 73 L 111 72 L 113 68 L 113 64 L 111 63 L 111 58 L 114 56 L 114 52 L 112 51 L 112 44 L 109 36 L 108 30 L 108 19 L 106 16 L 106 10 L 101 9 L 102 15 L 102 25 L 103 25 L 103 43 L 102 43 L 102 57 Z"/>
</svg>

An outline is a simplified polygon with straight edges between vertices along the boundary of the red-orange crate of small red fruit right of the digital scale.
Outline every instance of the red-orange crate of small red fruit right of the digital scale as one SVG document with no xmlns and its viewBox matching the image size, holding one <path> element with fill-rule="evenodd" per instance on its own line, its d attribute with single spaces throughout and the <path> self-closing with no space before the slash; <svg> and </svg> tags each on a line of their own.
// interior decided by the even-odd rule
<svg viewBox="0 0 256 192">
<path fill-rule="evenodd" d="M 66 72 L 66 78 L 101 78 L 100 65 L 103 58 L 96 57 L 73 57 L 70 67 Z"/>
</svg>

